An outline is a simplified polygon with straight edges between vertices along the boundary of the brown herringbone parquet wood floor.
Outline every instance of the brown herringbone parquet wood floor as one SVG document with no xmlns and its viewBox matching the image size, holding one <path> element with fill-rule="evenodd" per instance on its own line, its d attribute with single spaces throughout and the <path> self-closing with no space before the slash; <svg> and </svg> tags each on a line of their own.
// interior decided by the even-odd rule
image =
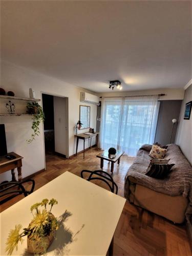
<svg viewBox="0 0 192 256">
<path fill-rule="evenodd" d="M 35 189 L 45 185 L 67 170 L 80 176 L 82 169 L 100 169 L 100 159 L 96 157 L 99 153 L 95 148 L 92 148 L 91 153 L 90 151 L 86 152 L 84 160 L 82 154 L 72 159 L 48 155 L 46 159 L 47 170 L 33 177 Z M 133 160 L 134 158 L 123 155 L 120 165 L 115 164 L 114 166 L 113 178 L 118 185 L 119 196 L 123 197 L 124 176 Z M 103 170 L 110 173 L 108 161 L 104 161 Z M 106 188 L 101 182 L 95 183 Z M 5 203 L 2 205 L 1 211 L 22 198 L 22 196 L 18 196 Z M 184 224 L 174 225 L 160 216 L 126 202 L 115 231 L 114 255 L 189 256 L 192 254 Z"/>
</svg>

